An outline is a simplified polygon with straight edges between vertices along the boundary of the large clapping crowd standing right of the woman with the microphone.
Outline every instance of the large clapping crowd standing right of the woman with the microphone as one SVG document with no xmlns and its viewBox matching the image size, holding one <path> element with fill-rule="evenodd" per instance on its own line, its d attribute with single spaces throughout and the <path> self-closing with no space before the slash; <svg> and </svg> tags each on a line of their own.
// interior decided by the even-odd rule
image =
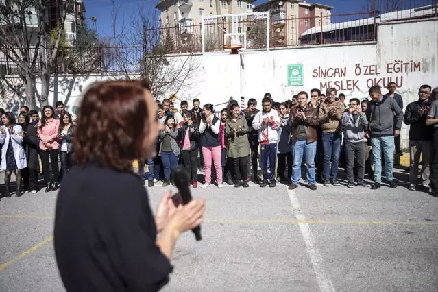
<svg viewBox="0 0 438 292">
<path fill-rule="evenodd" d="M 193 188 L 197 187 L 197 171 L 204 169 L 202 188 L 212 186 L 215 180 L 218 188 L 223 182 L 239 188 L 248 187 L 250 181 L 260 187 L 275 187 L 280 181 L 295 189 L 300 186 L 305 166 L 305 181 L 316 190 L 316 182 L 340 186 L 338 171 L 342 164 L 348 188 L 380 188 L 382 168 L 387 184 L 396 188 L 394 155 L 403 155 L 400 130 L 405 123 L 411 126 L 408 188 L 425 188 L 437 196 L 438 155 L 434 154 L 438 149 L 438 89 L 420 86 L 418 100 L 407 106 L 406 114 L 396 84 L 389 83 L 387 90 L 384 94 L 380 86 L 372 86 L 369 98 L 352 98 L 348 104 L 345 95 L 337 95 L 335 88 L 328 88 L 325 94 L 312 89 L 310 99 L 302 91 L 282 103 L 266 93 L 261 110 L 256 99 L 249 99 L 244 109 L 232 100 L 217 115 L 212 104 L 200 106 L 199 99 L 193 99 L 191 110 L 187 101 L 181 101 L 178 110 L 170 99 L 156 100 L 158 119 L 165 129 L 157 141 L 159 155 L 139 160 L 140 175 L 145 176 L 147 163 L 144 181 L 148 186 L 158 180 L 168 186 L 172 167 L 182 163 L 191 174 Z"/>
</svg>

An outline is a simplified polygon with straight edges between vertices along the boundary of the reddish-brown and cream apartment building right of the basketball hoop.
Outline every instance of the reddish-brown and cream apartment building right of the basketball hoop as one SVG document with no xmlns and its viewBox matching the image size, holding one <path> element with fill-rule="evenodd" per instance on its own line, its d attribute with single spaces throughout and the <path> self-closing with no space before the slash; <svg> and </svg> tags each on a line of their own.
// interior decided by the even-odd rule
<svg viewBox="0 0 438 292">
<path fill-rule="evenodd" d="M 299 45 L 300 36 L 312 27 L 331 23 L 332 6 L 303 0 L 271 0 L 254 12 L 271 13 L 271 46 Z"/>
</svg>

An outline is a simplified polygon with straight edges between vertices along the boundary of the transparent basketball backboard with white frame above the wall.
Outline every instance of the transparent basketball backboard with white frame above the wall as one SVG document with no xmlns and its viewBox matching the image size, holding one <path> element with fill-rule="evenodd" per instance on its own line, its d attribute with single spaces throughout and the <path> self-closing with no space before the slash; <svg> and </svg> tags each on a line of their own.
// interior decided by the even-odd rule
<svg viewBox="0 0 438 292">
<path fill-rule="evenodd" d="M 269 51 L 269 12 L 220 14 L 202 17 L 202 53 L 230 53 L 224 45 L 241 45 L 239 51 Z"/>
</svg>

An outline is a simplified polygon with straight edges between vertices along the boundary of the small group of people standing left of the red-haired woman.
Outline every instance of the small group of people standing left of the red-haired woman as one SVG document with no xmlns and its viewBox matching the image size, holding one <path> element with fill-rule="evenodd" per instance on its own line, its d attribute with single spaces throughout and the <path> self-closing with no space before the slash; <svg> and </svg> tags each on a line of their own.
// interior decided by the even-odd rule
<svg viewBox="0 0 438 292">
<path fill-rule="evenodd" d="M 75 165 L 72 116 L 64 110 L 62 101 L 57 101 L 55 106 L 56 111 L 52 106 L 43 106 L 41 117 L 37 110 L 21 106 L 18 123 L 15 114 L 0 108 L 0 169 L 5 171 L 1 196 L 12 196 L 12 173 L 16 178 L 16 197 L 27 192 L 36 193 L 40 161 L 46 192 L 57 190 L 62 176 Z"/>
</svg>

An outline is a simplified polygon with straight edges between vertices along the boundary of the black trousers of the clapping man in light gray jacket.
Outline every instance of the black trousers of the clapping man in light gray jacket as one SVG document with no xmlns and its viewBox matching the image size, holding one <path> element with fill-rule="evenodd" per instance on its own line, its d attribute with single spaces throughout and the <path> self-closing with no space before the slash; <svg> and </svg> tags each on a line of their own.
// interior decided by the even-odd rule
<svg viewBox="0 0 438 292">
<path fill-rule="evenodd" d="M 354 182 L 354 162 L 357 163 L 357 180 L 358 183 L 363 182 L 365 175 L 365 147 L 363 142 L 344 143 L 345 151 L 345 172 L 347 173 L 348 182 Z"/>
</svg>

